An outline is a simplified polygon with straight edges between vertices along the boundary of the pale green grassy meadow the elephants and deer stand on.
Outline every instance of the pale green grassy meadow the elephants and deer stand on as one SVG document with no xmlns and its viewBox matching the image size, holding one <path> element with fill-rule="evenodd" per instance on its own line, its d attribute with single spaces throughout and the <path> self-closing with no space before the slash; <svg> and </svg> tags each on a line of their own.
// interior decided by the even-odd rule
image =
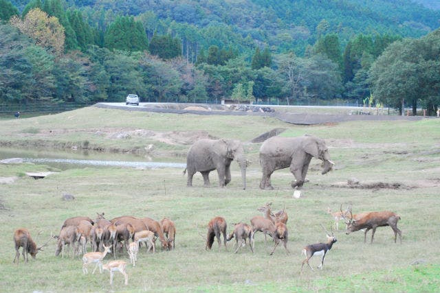
<svg viewBox="0 0 440 293">
<path fill-rule="evenodd" d="M 286 128 L 283 136 L 314 134 L 325 139 L 335 168 L 320 174 L 320 161 L 312 159 L 303 196 L 293 198 L 288 169 L 274 172 L 272 191 L 259 189 L 260 143 L 254 137 L 273 128 Z M 162 136 L 125 136 L 111 133 L 151 130 Z M 70 167 L 0 164 L 0 178 L 14 178 L 0 184 L 0 292 L 438 292 L 440 287 L 440 119 L 421 121 L 356 121 L 318 126 L 294 126 L 277 119 L 242 116 L 175 115 L 83 108 L 57 115 L 28 119 L 4 119 L 0 124 L 1 148 L 78 148 L 140 154 L 154 145 L 154 161 L 166 158 L 185 162 L 190 145 L 180 134 L 207 132 L 212 137 L 241 139 L 251 165 L 248 189 L 241 189 L 239 167 L 232 163 L 232 182 L 217 187 L 217 173 L 210 174 L 212 187 L 203 188 L 196 174 L 193 187 L 186 187 L 183 169 L 135 169 L 124 167 Z M 130 132 L 132 133 L 132 132 Z M 157 139 L 160 137 L 160 139 Z M 81 150 L 78 150 L 81 152 Z M 94 159 L 94 153 L 90 159 Z M 98 156 L 98 155 L 97 155 Z M 58 172 L 41 180 L 25 172 Z M 347 181 L 359 181 L 349 186 Z M 384 188 L 389 185 L 389 188 Z M 61 200 L 72 194 L 74 201 Z M 206 225 L 214 216 L 232 223 L 248 222 L 266 202 L 274 211 L 285 207 L 289 214 L 287 255 L 273 243 L 264 246 L 262 233 L 255 236 L 255 253 L 248 247 L 234 254 L 223 246 L 217 252 L 204 250 Z M 371 232 L 346 235 L 344 224 L 335 231 L 338 242 L 325 258 L 324 268 L 300 274 L 307 244 L 325 242 L 320 224 L 332 224 L 327 207 L 337 211 L 353 205 L 353 213 L 391 210 L 401 216 L 397 225 L 403 243 L 394 243 L 391 228 L 377 228 L 373 244 Z M 57 234 L 66 218 L 104 212 L 111 219 L 120 215 L 171 218 L 177 226 L 176 248 L 155 255 L 140 250 L 135 268 L 127 266 L 129 285 L 115 273 L 113 287 L 109 272 L 85 275 L 78 257 L 55 257 L 56 241 L 24 264 L 12 264 L 16 228 L 26 227 L 37 246 Z M 342 227 L 342 228 L 341 228 Z M 329 229 L 329 228 L 327 228 Z M 42 231 L 38 239 L 36 235 Z M 88 246 L 89 248 L 89 246 Z M 106 261 L 111 259 L 106 257 Z M 126 253 L 118 259 L 129 261 Z M 105 261 L 104 261 L 105 262 Z M 313 257 L 316 268 L 320 257 Z"/>
</svg>

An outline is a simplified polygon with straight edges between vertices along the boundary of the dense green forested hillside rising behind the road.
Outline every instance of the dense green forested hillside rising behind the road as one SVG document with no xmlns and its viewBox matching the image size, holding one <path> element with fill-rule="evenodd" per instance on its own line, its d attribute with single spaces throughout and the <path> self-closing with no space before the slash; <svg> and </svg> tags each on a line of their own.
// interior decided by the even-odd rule
<svg viewBox="0 0 440 293">
<path fill-rule="evenodd" d="M 433 32 L 440 19 L 439 10 L 409 0 L 0 4 L 5 102 L 137 93 L 147 101 L 379 104 L 369 80 L 375 60 L 396 40 Z"/>
</svg>

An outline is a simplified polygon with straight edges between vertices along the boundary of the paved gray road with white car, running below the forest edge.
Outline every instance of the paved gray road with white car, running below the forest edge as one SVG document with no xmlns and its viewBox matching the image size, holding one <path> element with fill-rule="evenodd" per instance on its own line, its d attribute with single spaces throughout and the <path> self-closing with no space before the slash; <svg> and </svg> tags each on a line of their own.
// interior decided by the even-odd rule
<svg viewBox="0 0 440 293">
<path fill-rule="evenodd" d="M 175 114 L 197 114 L 197 115 L 253 115 L 253 116 L 266 116 L 276 117 L 281 121 L 285 121 L 290 124 L 298 125 L 313 125 L 313 124 L 327 124 L 338 123 L 344 121 L 395 121 L 395 120 L 408 120 L 415 121 L 423 119 L 421 116 L 397 116 L 397 115 L 333 115 L 333 114 L 309 114 L 309 113 L 287 113 L 285 111 L 275 111 L 272 113 L 261 112 L 243 112 L 225 110 L 224 106 L 218 104 L 175 104 L 175 103 L 140 103 L 139 106 L 126 105 L 125 103 L 98 103 L 94 106 L 98 108 L 115 108 L 121 110 L 133 110 L 133 111 L 145 111 L 155 113 L 175 113 Z M 188 106 L 203 106 L 209 107 L 211 110 L 184 110 L 182 107 Z M 265 105 L 271 107 L 270 105 Z M 278 107 L 274 105 L 273 107 Z M 287 106 L 288 107 L 288 106 Z M 298 108 L 298 106 L 294 106 Z M 329 106 L 319 106 L 320 108 L 335 108 Z M 316 108 L 316 106 L 303 106 L 303 108 Z M 347 108 L 347 107 L 340 107 Z"/>
</svg>

